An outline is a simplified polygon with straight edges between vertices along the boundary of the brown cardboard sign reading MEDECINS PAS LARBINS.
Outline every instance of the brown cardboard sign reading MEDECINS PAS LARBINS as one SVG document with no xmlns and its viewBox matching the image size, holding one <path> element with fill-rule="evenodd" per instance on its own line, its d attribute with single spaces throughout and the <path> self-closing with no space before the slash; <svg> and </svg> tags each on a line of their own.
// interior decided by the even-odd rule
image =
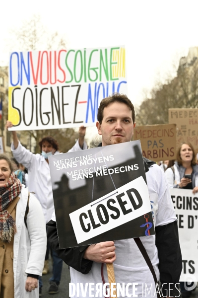
<svg viewBox="0 0 198 298">
<path fill-rule="evenodd" d="M 142 155 L 153 161 L 176 159 L 176 125 L 138 126 L 133 140 L 141 141 Z"/>
</svg>

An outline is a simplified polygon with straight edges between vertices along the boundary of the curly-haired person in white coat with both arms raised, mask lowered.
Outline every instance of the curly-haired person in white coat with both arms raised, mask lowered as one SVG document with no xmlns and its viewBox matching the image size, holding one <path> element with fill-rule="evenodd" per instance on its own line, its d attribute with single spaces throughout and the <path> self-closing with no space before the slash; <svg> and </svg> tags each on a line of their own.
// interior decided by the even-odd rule
<svg viewBox="0 0 198 298">
<path fill-rule="evenodd" d="M 12 127 L 12 123 L 7 121 L 6 128 Z M 78 151 L 87 149 L 84 141 L 86 128 L 81 126 L 79 128 L 79 139 L 75 145 L 68 151 Z M 50 155 L 59 154 L 59 146 L 57 141 L 52 137 L 45 137 L 39 142 L 41 154 L 33 154 L 25 147 L 23 147 L 17 138 L 16 131 L 12 131 L 13 142 L 11 144 L 11 151 L 15 159 L 22 163 L 28 169 L 28 189 L 34 192 L 35 196 L 41 203 L 43 214 L 48 223 L 54 211 L 54 201 L 52 194 L 52 185 L 50 178 L 50 168 L 48 157 Z M 63 261 L 53 251 L 53 276 L 50 279 L 49 294 L 56 294 L 59 292 L 58 286 L 61 280 Z M 39 293 L 41 296 L 42 282 L 39 280 Z"/>
</svg>

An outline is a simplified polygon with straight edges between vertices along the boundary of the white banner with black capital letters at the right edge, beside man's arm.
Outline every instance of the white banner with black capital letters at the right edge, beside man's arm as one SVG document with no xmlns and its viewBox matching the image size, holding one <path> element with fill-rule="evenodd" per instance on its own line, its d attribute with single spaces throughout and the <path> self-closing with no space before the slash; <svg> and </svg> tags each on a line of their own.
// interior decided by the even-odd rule
<svg viewBox="0 0 198 298">
<path fill-rule="evenodd" d="M 198 281 L 198 193 L 192 189 L 170 189 L 178 218 L 183 270 L 181 282 Z"/>
</svg>

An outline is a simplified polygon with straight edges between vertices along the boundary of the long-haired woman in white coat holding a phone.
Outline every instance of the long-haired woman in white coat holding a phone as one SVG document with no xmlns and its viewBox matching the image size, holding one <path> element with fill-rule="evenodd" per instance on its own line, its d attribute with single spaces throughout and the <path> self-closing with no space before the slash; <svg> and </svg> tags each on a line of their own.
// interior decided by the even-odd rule
<svg viewBox="0 0 198 298">
<path fill-rule="evenodd" d="M 198 164 L 195 150 L 190 143 L 181 144 L 175 164 L 167 168 L 165 175 L 170 188 L 192 189 L 193 194 L 198 192 Z M 184 282 L 180 283 L 180 287 L 182 298 L 191 297 L 192 291 L 185 289 Z"/>
</svg>

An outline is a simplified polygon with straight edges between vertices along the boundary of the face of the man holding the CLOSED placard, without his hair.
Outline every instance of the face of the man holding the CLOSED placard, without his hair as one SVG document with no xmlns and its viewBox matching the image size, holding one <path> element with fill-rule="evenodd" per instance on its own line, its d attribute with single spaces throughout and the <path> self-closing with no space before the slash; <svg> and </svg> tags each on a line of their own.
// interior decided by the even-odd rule
<svg viewBox="0 0 198 298">
<path fill-rule="evenodd" d="M 102 146 L 129 142 L 135 123 L 132 111 L 125 103 L 114 102 L 103 111 L 103 120 L 96 123 L 98 134 L 102 136 Z"/>
</svg>

